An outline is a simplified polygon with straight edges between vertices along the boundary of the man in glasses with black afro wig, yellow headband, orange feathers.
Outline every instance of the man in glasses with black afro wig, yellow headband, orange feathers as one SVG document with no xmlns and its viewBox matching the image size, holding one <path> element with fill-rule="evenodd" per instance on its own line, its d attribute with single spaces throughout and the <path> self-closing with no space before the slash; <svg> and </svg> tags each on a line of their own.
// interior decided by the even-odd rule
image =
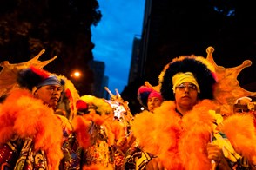
<svg viewBox="0 0 256 170">
<path fill-rule="evenodd" d="M 145 169 L 232 169 L 240 155 L 256 164 L 253 117 L 223 120 L 216 112 L 216 83 L 215 68 L 202 56 L 180 56 L 165 66 L 158 85 L 164 101 L 154 114 L 136 115 L 131 127 L 144 150 L 157 155 Z"/>
</svg>

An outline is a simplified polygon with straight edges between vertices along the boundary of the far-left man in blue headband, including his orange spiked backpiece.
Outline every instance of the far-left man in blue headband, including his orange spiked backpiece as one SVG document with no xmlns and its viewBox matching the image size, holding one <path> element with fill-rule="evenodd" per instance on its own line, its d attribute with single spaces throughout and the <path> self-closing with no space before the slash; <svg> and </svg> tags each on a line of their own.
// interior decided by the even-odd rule
<svg viewBox="0 0 256 170">
<path fill-rule="evenodd" d="M 1 169 L 81 169 L 81 147 L 76 140 L 67 144 L 76 139 L 71 122 L 55 114 L 61 94 L 68 90 L 76 100 L 77 91 L 63 75 L 43 69 L 54 59 L 37 60 L 43 53 L 28 62 L 1 62 L 0 95 L 6 96 L 0 105 Z"/>
</svg>

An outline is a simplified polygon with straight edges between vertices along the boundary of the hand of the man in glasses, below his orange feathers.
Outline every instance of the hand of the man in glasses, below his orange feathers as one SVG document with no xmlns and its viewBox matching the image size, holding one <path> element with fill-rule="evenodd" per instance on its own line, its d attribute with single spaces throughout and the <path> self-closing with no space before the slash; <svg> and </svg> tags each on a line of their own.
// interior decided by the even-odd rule
<svg viewBox="0 0 256 170">
<path fill-rule="evenodd" d="M 232 169 L 229 167 L 228 162 L 222 152 L 222 149 L 219 145 L 208 143 L 207 144 L 207 154 L 209 160 L 214 160 L 216 166 L 222 170 L 229 170 Z"/>
</svg>

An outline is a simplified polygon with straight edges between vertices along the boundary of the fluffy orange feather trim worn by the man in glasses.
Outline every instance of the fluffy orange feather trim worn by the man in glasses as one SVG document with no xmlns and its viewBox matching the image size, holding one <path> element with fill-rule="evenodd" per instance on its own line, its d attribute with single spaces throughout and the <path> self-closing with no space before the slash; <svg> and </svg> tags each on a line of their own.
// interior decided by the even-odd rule
<svg viewBox="0 0 256 170">
<path fill-rule="evenodd" d="M 204 100 L 181 118 L 175 112 L 175 102 L 164 101 L 154 114 L 145 111 L 136 115 L 131 130 L 145 151 L 157 155 L 167 169 L 211 169 L 206 145 L 210 142 L 215 118 L 208 111 L 216 108 L 213 101 Z M 242 115 L 230 116 L 223 121 L 221 128 L 235 148 L 239 149 L 239 154 L 246 158 L 254 158 L 256 153 L 252 120 L 252 117 Z M 237 123 L 233 124 L 233 121 Z M 246 131 L 245 126 L 249 127 Z M 235 135 L 238 133 L 243 138 Z M 244 140 L 246 146 L 242 144 Z M 250 147 L 253 152 L 249 151 Z"/>
</svg>

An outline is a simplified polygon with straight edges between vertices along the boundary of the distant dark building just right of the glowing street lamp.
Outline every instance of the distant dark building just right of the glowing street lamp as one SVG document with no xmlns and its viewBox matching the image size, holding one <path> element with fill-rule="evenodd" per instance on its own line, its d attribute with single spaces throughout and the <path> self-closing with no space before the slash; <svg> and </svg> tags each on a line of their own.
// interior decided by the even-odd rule
<svg viewBox="0 0 256 170">
<path fill-rule="evenodd" d="M 91 95 L 95 95 L 101 98 L 108 97 L 107 92 L 104 89 L 104 87 L 108 86 L 108 77 L 104 75 L 104 62 L 91 61 L 89 62 L 89 67 L 93 72 L 94 79 L 91 89 Z"/>
</svg>

